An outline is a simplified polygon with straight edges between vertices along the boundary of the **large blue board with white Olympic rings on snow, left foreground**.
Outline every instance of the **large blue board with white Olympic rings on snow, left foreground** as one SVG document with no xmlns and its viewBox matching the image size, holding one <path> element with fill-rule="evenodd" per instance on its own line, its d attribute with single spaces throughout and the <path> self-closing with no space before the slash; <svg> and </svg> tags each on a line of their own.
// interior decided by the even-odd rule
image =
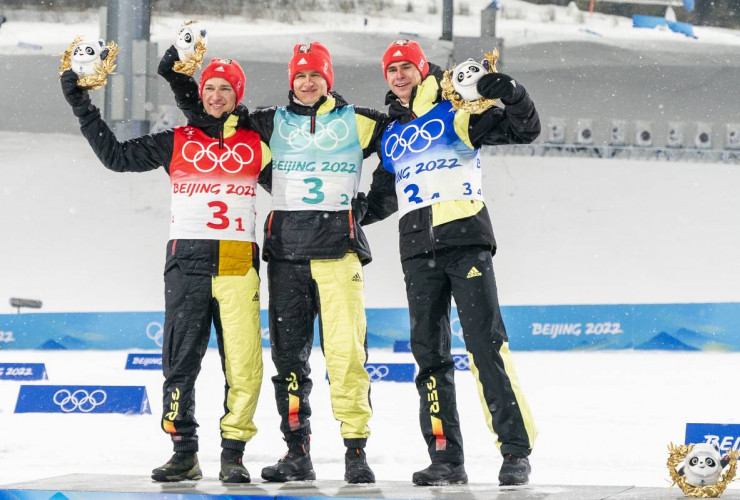
<svg viewBox="0 0 740 500">
<path fill-rule="evenodd" d="M 144 386 L 22 385 L 15 413 L 151 414 Z"/>
</svg>

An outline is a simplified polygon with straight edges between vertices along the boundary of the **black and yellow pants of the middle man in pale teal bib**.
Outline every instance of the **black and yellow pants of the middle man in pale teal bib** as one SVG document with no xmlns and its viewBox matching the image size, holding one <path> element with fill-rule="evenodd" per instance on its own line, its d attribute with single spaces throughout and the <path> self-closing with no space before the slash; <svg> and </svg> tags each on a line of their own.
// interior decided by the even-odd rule
<svg viewBox="0 0 740 500">
<path fill-rule="evenodd" d="M 334 418 L 345 446 L 364 448 L 372 414 L 367 360 L 367 323 L 362 264 L 349 252 L 341 259 L 267 264 L 272 377 L 280 430 L 289 447 L 307 446 L 311 434 L 309 356 L 319 316 Z"/>
</svg>

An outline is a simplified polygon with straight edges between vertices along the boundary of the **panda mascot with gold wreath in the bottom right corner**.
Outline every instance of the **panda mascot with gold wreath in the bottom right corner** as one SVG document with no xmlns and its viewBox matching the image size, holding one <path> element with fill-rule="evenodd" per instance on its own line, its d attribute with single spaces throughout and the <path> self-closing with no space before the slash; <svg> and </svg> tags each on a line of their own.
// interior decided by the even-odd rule
<svg viewBox="0 0 740 500">
<path fill-rule="evenodd" d="M 668 445 L 668 472 L 673 484 L 685 495 L 716 498 L 732 482 L 737 469 L 737 451 L 722 456 L 719 446 L 710 443 Z"/>
</svg>

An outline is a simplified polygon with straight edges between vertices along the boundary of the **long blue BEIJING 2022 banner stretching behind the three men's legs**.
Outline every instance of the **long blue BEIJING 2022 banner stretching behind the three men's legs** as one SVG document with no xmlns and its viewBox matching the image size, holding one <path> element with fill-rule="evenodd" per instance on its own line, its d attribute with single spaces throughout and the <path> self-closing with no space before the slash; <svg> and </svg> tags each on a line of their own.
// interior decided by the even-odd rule
<svg viewBox="0 0 740 500">
<path fill-rule="evenodd" d="M 740 351 L 740 303 L 503 306 L 514 351 L 598 349 Z M 267 325 L 267 311 L 261 321 Z M 0 315 L 3 349 L 157 349 L 163 312 Z M 452 348 L 464 348 L 457 310 L 450 314 Z M 262 346 L 269 331 L 262 328 Z M 367 310 L 367 345 L 408 343 L 405 308 Z M 215 335 L 209 347 L 216 347 Z M 319 345 L 315 336 L 314 345 Z"/>
</svg>

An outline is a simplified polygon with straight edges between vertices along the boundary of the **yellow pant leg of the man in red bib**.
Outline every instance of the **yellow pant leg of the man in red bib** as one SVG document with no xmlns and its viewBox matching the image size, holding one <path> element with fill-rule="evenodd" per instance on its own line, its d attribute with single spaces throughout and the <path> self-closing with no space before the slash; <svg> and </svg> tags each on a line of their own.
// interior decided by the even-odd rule
<svg viewBox="0 0 740 500">
<path fill-rule="evenodd" d="M 227 413 L 221 418 L 221 437 L 247 442 L 257 433 L 254 412 L 262 387 L 260 280 L 250 268 L 244 276 L 214 276 L 223 330 Z"/>
</svg>

